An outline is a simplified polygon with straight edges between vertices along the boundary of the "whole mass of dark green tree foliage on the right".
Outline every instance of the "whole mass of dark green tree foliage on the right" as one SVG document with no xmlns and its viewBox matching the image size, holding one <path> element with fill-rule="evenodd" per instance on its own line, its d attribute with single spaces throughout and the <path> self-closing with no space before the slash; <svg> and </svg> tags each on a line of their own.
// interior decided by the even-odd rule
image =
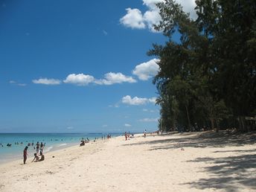
<svg viewBox="0 0 256 192">
<path fill-rule="evenodd" d="M 157 5 L 162 21 L 156 30 L 168 40 L 148 54 L 160 59 L 153 83 L 161 126 L 191 130 L 211 122 L 219 128 L 234 115 L 245 129 L 242 117 L 254 115 L 256 106 L 256 1 L 197 0 L 196 21 L 173 0 Z"/>
</svg>

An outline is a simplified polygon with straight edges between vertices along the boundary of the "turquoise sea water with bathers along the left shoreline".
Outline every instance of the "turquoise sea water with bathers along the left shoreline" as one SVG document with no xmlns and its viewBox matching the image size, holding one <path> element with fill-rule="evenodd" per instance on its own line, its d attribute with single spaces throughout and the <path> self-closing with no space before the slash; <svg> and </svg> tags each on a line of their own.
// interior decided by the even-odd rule
<svg viewBox="0 0 256 192">
<path fill-rule="evenodd" d="M 22 159 L 23 150 L 28 143 L 33 143 L 33 146 L 28 147 L 28 157 L 33 157 L 33 153 L 36 152 L 33 147 L 37 141 L 39 144 L 41 142 L 45 144 L 44 153 L 47 153 L 74 145 L 79 146 L 82 138 L 93 141 L 95 138 L 104 139 L 106 135 L 103 133 L 0 133 L 0 163 Z M 115 137 L 121 134 L 111 135 Z M 7 144 L 11 144 L 11 147 L 7 147 Z"/>
</svg>

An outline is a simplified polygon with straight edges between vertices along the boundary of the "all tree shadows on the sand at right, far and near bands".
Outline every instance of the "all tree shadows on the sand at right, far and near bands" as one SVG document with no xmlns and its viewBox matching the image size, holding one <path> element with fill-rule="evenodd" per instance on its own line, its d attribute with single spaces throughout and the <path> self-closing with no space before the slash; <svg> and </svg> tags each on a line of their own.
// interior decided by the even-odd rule
<svg viewBox="0 0 256 192">
<path fill-rule="evenodd" d="M 150 144 L 150 150 L 168 150 L 185 147 L 239 147 L 245 144 L 256 143 L 256 132 L 243 134 L 232 132 L 201 132 L 196 134 L 176 134 L 177 138 L 166 138 L 144 141 L 137 144 Z M 180 136 L 179 136 L 180 135 Z M 157 137 L 156 137 L 157 138 Z M 191 188 L 207 190 L 215 188 L 217 191 L 240 191 L 234 185 L 239 183 L 247 191 L 256 191 L 256 148 L 250 150 L 216 150 L 214 153 L 232 153 L 232 156 L 224 158 L 197 158 L 191 162 L 205 161 L 209 165 L 202 172 L 208 173 L 208 178 L 197 182 L 183 183 L 191 185 Z"/>
</svg>

